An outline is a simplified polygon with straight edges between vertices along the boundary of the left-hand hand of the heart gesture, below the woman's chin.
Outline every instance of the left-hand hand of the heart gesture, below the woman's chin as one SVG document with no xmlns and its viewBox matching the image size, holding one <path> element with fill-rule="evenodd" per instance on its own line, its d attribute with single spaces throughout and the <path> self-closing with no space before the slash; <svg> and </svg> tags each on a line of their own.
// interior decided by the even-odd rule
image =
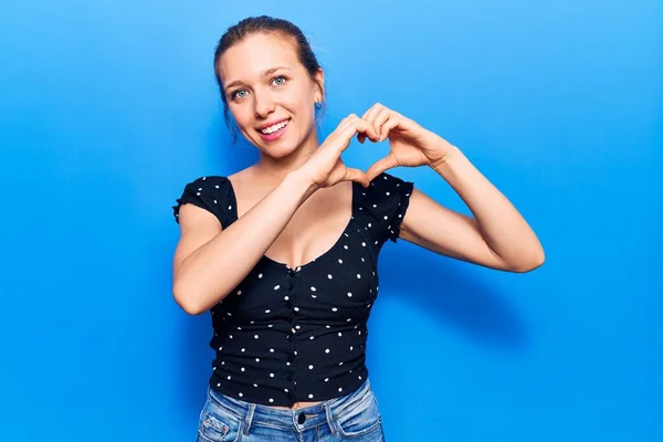
<svg viewBox="0 0 663 442">
<path fill-rule="evenodd" d="M 332 187 L 340 181 L 357 181 L 365 188 L 369 186 L 368 177 L 359 169 L 346 167 L 340 154 L 350 145 L 357 134 L 365 134 L 371 141 L 378 141 L 380 134 L 375 127 L 359 118 L 356 114 L 345 117 L 329 134 L 325 143 L 302 165 L 297 172 L 318 188 Z"/>
</svg>

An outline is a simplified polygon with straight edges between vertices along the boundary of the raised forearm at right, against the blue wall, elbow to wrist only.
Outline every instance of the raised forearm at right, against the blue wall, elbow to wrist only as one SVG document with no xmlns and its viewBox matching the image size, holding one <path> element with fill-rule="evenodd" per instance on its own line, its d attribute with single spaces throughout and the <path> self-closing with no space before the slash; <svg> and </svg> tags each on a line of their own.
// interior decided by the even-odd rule
<svg viewBox="0 0 663 442">
<path fill-rule="evenodd" d="M 467 204 L 484 240 L 497 256 L 514 269 L 543 264 L 544 250 L 527 221 L 460 149 L 454 147 L 442 162 L 431 168 Z"/>
</svg>

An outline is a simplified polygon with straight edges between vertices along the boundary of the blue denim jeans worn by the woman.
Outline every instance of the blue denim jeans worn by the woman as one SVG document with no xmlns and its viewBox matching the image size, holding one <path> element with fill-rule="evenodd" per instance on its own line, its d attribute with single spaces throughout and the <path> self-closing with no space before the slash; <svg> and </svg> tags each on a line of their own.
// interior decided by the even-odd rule
<svg viewBox="0 0 663 442">
<path fill-rule="evenodd" d="M 197 441 L 385 442 L 385 435 L 378 400 L 366 379 L 357 391 L 296 410 L 245 402 L 208 387 Z"/>
</svg>

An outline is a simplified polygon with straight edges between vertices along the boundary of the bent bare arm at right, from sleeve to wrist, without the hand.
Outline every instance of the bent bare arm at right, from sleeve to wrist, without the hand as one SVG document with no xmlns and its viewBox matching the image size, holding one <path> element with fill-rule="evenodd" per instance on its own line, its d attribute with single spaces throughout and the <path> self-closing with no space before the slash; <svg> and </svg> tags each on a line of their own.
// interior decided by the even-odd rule
<svg viewBox="0 0 663 442">
<path fill-rule="evenodd" d="M 536 234 L 514 206 L 459 150 L 431 165 L 474 218 L 446 209 L 414 189 L 400 238 L 435 253 L 524 273 L 545 261 Z"/>
</svg>

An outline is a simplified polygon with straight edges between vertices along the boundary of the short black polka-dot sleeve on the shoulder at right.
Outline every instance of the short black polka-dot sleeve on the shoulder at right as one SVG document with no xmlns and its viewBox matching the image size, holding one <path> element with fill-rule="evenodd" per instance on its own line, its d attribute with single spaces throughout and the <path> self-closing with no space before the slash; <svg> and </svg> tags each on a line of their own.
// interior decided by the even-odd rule
<svg viewBox="0 0 663 442">
<path fill-rule="evenodd" d="M 382 172 L 377 176 L 366 189 L 362 210 L 370 213 L 378 223 L 378 240 L 396 242 L 400 233 L 401 222 L 408 206 L 414 183 Z"/>
</svg>

